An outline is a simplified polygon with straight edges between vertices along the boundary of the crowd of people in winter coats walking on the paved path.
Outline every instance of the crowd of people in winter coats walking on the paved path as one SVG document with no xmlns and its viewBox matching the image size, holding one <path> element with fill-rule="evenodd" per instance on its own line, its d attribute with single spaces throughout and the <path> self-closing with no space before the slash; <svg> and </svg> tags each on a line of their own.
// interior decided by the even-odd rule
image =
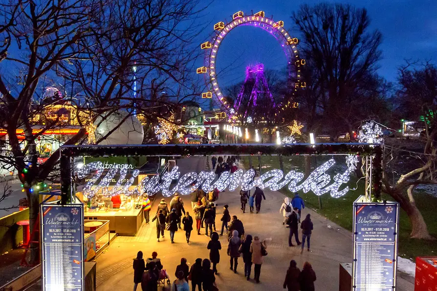
<svg viewBox="0 0 437 291">
<path fill-rule="evenodd" d="M 215 173 L 220 176 L 223 171 L 235 172 L 238 169 L 238 158 L 227 157 L 226 161 L 223 157 L 213 157 L 211 159 Z M 174 243 L 175 232 L 183 228 L 185 231 L 186 242 L 190 243 L 191 232 L 194 230 L 194 223 L 197 235 L 204 228 L 204 235 L 210 238 L 207 249 L 209 250 L 209 259 L 197 258 L 195 263 L 189 268 L 187 260 L 181 258 L 180 265 L 176 267 L 175 280 L 170 282 L 170 277 L 163 266 L 157 253 L 153 252 L 152 257 L 144 260 L 143 253 L 138 252 L 137 257 L 133 260 L 134 269 L 134 291 L 141 284 L 143 291 L 156 291 L 159 284 L 167 281 L 173 291 L 189 291 L 189 281 L 191 281 L 191 290 L 196 288 L 201 291 L 217 291 L 216 275 L 218 275 L 217 266 L 220 262 L 220 252 L 222 245 L 219 237 L 223 236 L 225 231 L 227 234 L 226 253 L 229 256 L 229 269 L 234 273 L 238 273 L 239 258 L 242 257 L 244 264 L 244 276 L 246 280 L 251 279 L 252 266 L 253 279 L 256 283 L 260 283 L 261 267 L 264 262 L 264 257 L 267 256 L 267 244 L 261 241 L 259 236 L 245 234 L 244 225 L 236 215 L 231 216 L 229 213 L 229 205 L 224 205 L 222 210 L 220 234 L 216 230 L 216 213 L 217 201 L 219 199 L 219 190 L 215 189 L 209 193 L 205 193 L 202 189 L 197 189 L 191 193 L 191 209 L 194 218 L 186 211 L 182 198 L 176 193 L 170 201 L 170 208 L 167 202 L 162 199 L 157 207 L 156 214 L 152 222 L 156 221 L 157 241 L 164 238 L 165 230 L 170 233 L 171 243 Z M 261 210 L 262 199 L 265 200 L 264 193 L 261 188 L 256 187 L 253 195 L 249 191 L 240 191 L 240 204 L 242 213 L 246 212 L 246 204 L 249 203 L 249 212 L 259 213 Z M 255 207 L 255 209 L 254 209 Z M 302 209 L 305 208 L 303 199 L 296 194 L 293 199 L 284 198 L 280 208 L 280 213 L 283 215 L 283 225 L 289 228 L 288 245 L 292 244 L 292 238 L 298 246 L 301 246 L 301 253 L 307 243 L 307 251 L 310 251 L 310 237 L 313 230 L 310 214 L 301 223 Z M 149 211 L 151 209 L 150 201 L 145 199 L 143 203 L 145 211 L 144 216 L 146 223 L 149 223 Z M 147 214 L 146 214 L 147 211 Z M 302 242 L 299 240 L 299 224 L 302 233 Z M 284 279 L 284 289 L 288 291 L 314 291 L 314 281 L 316 275 L 311 265 L 305 262 L 302 271 L 297 268 L 297 263 L 292 260 L 290 267 L 286 272 Z"/>
</svg>

